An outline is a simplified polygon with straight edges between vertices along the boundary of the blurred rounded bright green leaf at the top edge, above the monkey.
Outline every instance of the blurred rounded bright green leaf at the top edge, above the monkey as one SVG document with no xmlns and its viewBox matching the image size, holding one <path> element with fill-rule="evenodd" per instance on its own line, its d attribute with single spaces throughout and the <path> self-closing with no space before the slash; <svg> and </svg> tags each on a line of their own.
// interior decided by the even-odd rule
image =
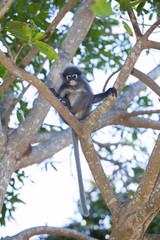
<svg viewBox="0 0 160 240">
<path fill-rule="evenodd" d="M 113 15 L 111 3 L 106 0 L 95 0 L 95 3 L 91 6 L 91 10 L 101 18 L 109 17 Z"/>
</svg>

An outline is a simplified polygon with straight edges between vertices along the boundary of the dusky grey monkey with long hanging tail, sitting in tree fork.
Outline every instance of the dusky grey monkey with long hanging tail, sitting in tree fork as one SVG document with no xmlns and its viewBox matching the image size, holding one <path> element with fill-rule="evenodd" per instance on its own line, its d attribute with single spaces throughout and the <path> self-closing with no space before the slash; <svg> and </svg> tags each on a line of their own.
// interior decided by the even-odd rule
<svg viewBox="0 0 160 240">
<path fill-rule="evenodd" d="M 68 66 L 61 74 L 62 84 L 56 92 L 53 88 L 50 90 L 53 94 L 59 98 L 59 100 L 68 107 L 69 111 L 78 119 L 84 119 L 91 111 L 93 103 L 102 101 L 108 95 L 117 97 L 117 91 L 115 88 L 109 88 L 107 91 L 99 94 L 93 94 L 92 89 L 86 82 L 82 71 L 76 66 Z M 76 160 L 79 193 L 82 206 L 82 213 L 84 216 L 89 215 L 89 211 L 86 204 L 86 198 L 84 193 L 82 171 L 78 149 L 78 135 L 72 129 L 72 140 L 74 147 L 74 155 Z"/>
</svg>

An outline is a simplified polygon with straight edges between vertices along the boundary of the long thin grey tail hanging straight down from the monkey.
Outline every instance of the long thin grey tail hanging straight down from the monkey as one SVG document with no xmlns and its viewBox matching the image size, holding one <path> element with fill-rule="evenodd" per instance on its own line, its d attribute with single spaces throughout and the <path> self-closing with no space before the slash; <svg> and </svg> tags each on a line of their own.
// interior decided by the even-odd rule
<svg viewBox="0 0 160 240">
<path fill-rule="evenodd" d="M 80 194 L 80 200 L 81 200 L 82 214 L 85 217 L 88 217 L 89 211 L 88 211 L 88 208 L 87 208 L 83 179 L 82 179 L 82 171 L 81 171 L 79 148 L 78 148 L 78 136 L 73 129 L 72 129 L 72 140 L 73 140 L 74 156 L 75 156 L 76 167 L 77 167 L 79 194 Z"/>
</svg>

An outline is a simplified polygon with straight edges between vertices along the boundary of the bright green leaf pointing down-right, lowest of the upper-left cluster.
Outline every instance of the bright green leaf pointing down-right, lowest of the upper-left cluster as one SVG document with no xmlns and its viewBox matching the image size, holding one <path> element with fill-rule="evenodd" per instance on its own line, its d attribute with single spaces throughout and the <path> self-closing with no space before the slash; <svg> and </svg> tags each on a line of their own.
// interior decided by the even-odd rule
<svg viewBox="0 0 160 240">
<path fill-rule="evenodd" d="M 38 47 L 40 52 L 47 55 L 49 60 L 51 60 L 51 61 L 53 59 L 55 59 L 56 61 L 59 60 L 59 57 L 58 57 L 58 54 L 56 53 L 56 51 L 52 47 L 50 47 L 47 43 L 35 41 L 33 44 L 35 44 Z"/>
</svg>

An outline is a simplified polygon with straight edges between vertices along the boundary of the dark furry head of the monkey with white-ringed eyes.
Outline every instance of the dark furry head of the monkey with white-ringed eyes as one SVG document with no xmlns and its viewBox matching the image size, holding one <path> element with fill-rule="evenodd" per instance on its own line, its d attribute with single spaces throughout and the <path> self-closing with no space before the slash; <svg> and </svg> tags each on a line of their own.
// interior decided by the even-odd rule
<svg viewBox="0 0 160 240">
<path fill-rule="evenodd" d="M 75 86 L 81 78 L 81 71 L 77 67 L 67 67 L 62 73 L 63 80 L 71 86 Z"/>
</svg>

